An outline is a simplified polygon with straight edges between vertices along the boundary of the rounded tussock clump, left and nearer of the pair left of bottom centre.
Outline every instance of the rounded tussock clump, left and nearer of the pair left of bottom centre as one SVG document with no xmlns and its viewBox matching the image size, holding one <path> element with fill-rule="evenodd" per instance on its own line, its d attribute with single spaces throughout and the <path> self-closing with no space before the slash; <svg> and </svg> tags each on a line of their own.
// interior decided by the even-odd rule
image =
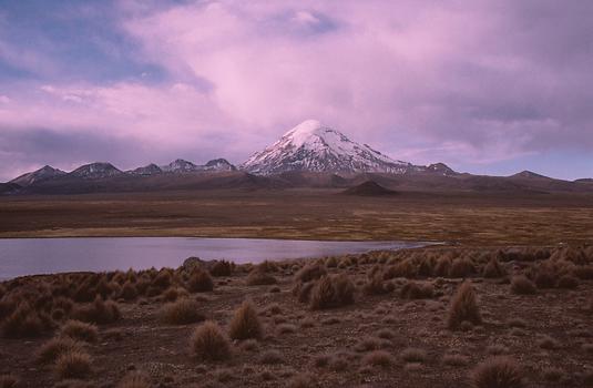
<svg viewBox="0 0 593 388">
<path fill-rule="evenodd" d="M 201 360 L 222 361 L 231 358 L 228 339 L 213 320 L 207 320 L 195 329 L 191 347 Z"/>
</svg>

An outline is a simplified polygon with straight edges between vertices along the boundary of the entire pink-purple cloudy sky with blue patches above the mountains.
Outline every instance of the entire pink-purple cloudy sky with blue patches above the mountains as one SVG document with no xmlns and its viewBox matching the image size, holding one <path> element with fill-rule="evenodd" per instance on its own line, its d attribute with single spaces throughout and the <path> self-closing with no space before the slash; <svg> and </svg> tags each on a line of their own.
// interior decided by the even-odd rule
<svg viewBox="0 0 593 388">
<path fill-rule="evenodd" d="M 0 0 L 0 181 L 241 163 L 315 118 L 395 159 L 593 176 L 593 1 Z"/>
</svg>

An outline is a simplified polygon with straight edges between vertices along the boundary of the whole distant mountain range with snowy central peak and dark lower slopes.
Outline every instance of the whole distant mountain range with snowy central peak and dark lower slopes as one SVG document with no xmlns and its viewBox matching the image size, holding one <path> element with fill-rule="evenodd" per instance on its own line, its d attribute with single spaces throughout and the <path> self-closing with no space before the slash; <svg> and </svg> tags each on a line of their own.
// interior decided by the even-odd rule
<svg viewBox="0 0 593 388">
<path fill-rule="evenodd" d="M 90 163 L 71 172 L 45 165 L 8 183 L 0 194 L 75 194 L 198 188 L 355 187 L 377 191 L 372 182 L 398 191 L 590 192 L 593 180 L 554 180 L 523 171 L 511 176 L 462 174 L 443 163 L 427 166 L 393 160 L 344 133 L 307 120 L 238 167 L 225 159 L 200 165 L 175 160 L 121 171 Z"/>
</svg>

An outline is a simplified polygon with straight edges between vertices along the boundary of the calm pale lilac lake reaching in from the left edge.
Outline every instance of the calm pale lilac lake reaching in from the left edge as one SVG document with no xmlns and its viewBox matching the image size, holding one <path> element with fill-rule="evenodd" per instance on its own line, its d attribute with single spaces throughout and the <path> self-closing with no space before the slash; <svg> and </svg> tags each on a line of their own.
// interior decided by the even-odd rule
<svg viewBox="0 0 593 388">
<path fill-rule="evenodd" d="M 0 238 L 0 279 L 61 272 L 178 267 L 190 256 L 258 263 L 428 244 L 197 237 Z"/>
</svg>

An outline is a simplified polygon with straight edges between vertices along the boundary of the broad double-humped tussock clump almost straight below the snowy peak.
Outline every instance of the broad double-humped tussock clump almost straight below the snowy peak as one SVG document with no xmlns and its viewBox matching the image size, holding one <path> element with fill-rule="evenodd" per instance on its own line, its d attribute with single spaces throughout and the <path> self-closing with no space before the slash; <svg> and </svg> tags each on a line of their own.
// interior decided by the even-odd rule
<svg viewBox="0 0 593 388">
<path fill-rule="evenodd" d="M 354 303 L 355 286 L 347 275 L 324 275 L 310 292 L 311 309 L 325 309 Z"/>
</svg>

